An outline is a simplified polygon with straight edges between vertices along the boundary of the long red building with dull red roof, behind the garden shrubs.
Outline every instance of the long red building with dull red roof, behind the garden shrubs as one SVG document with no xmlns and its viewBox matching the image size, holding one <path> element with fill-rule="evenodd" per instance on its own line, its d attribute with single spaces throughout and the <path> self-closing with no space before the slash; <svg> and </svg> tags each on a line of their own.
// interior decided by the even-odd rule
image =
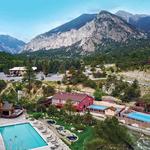
<svg viewBox="0 0 150 150">
<path fill-rule="evenodd" d="M 61 108 L 67 100 L 72 101 L 73 106 L 77 111 L 83 111 L 93 104 L 94 98 L 87 94 L 60 92 L 52 97 L 51 104 Z"/>
</svg>

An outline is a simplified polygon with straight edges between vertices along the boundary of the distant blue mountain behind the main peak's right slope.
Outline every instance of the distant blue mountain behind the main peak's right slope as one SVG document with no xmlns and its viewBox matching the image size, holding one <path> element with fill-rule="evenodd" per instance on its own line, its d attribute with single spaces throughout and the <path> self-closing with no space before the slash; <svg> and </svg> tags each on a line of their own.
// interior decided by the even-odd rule
<svg viewBox="0 0 150 150">
<path fill-rule="evenodd" d="M 131 14 L 126 11 L 118 11 L 117 16 L 121 17 L 131 25 L 135 26 L 138 30 L 150 33 L 150 15 L 145 14 Z"/>
</svg>

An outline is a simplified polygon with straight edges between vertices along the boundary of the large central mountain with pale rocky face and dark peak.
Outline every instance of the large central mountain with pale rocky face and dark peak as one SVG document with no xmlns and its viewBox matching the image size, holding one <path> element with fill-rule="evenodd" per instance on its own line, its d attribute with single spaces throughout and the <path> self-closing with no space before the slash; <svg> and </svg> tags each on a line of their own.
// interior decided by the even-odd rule
<svg viewBox="0 0 150 150">
<path fill-rule="evenodd" d="M 84 19 L 83 19 L 84 18 Z M 74 45 L 82 52 L 93 52 L 96 45 L 107 42 L 125 43 L 130 39 L 145 38 L 118 16 L 107 11 L 97 15 L 82 15 L 49 32 L 41 34 L 29 42 L 24 51 L 50 50 Z"/>
</svg>

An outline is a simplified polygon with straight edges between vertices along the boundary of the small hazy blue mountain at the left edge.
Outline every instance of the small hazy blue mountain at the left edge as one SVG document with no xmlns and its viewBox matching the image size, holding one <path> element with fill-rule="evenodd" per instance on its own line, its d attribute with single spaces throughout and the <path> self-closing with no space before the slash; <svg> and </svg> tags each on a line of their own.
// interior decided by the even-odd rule
<svg viewBox="0 0 150 150">
<path fill-rule="evenodd" d="M 9 35 L 0 35 L 0 51 L 16 54 L 21 51 L 25 42 Z"/>
</svg>

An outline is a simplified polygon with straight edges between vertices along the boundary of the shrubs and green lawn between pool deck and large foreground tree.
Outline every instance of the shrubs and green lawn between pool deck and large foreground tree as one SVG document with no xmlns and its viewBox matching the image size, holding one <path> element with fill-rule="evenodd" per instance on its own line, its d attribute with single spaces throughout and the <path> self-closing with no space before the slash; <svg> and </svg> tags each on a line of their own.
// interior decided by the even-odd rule
<svg viewBox="0 0 150 150">
<path fill-rule="evenodd" d="M 40 107 L 39 112 L 28 112 L 29 116 L 34 119 L 44 119 L 48 121 L 56 122 L 55 126 L 64 127 L 64 130 L 69 130 L 75 134 L 77 141 L 66 142 L 66 138 L 62 139 L 72 150 L 83 150 L 84 143 L 93 138 L 93 127 L 96 124 L 96 120 L 93 119 L 89 112 L 84 115 L 77 114 L 73 111 L 73 108 L 65 105 L 64 109 L 57 109 L 51 105 L 47 110 Z M 54 127 L 54 126 L 53 126 Z"/>
</svg>

